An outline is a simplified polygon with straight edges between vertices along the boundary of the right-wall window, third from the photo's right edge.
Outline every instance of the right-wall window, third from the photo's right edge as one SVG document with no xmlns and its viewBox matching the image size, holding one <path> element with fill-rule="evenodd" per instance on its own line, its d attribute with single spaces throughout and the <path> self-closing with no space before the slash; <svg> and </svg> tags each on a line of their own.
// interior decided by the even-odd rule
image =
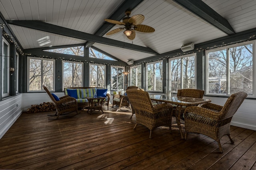
<svg viewBox="0 0 256 170">
<path fill-rule="evenodd" d="M 163 91 L 163 62 L 157 61 L 146 64 L 146 90 Z"/>
</svg>

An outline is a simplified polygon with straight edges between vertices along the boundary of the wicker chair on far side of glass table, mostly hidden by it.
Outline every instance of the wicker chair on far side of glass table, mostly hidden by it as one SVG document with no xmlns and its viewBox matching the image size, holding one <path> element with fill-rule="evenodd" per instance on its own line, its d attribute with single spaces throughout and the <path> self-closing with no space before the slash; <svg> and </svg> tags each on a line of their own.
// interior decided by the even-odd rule
<svg viewBox="0 0 256 170">
<path fill-rule="evenodd" d="M 187 98 L 200 98 L 202 99 L 204 96 L 204 90 L 198 90 L 198 89 L 192 89 L 192 88 L 186 88 L 186 89 L 179 89 L 177 92 L 178 97 L 187 97 Z M 172 105 L 173 111 L 172 114 L 176 111 L 176 105 Z M 183 119 L 183 113 L 184 113 L 185 107 L 181 109 L 180 111 L 180 117 Z"/>
</svg>

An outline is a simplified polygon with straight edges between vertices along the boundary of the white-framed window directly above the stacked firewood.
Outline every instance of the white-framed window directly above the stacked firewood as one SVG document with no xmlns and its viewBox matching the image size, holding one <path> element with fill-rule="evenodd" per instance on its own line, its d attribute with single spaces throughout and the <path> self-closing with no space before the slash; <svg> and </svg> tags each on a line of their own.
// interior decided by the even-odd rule
<svg viewBox="0 0 256 170">
<path fill-rule="evenodd" d="M 43 91 L 43 85 L 54 91 L 55 60 L 28 57 L 28 91 Z"/>
</svg>

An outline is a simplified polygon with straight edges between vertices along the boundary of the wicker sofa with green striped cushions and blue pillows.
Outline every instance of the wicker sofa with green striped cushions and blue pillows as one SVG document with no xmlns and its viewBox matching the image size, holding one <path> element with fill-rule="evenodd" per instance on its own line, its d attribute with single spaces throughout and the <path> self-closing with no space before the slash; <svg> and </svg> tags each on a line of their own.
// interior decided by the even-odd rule
<svg viewBox="0 0 256 170">
<path fill-rule="evenodd" d="M 108 106 L 110 101 L 110 94 L 107 94 L 107 89 L 104 88 L 92 88 L 92 87 L 69 87 L 64 88 L 65 95 L 76 98 L 78 107 L 84 108 L 89 106 L 86 97 L 92 98 L 95 95 L 97 97 L 106 98 L 104 104 Z"/>
</svg>

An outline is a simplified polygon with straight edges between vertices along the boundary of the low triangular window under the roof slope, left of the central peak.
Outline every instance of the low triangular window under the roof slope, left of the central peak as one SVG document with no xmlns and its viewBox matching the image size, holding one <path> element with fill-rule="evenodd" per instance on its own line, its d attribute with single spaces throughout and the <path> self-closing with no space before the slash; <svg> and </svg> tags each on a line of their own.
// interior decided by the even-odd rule
<svg viewBox="0 0 256 170">
<path fill-rule="evenodd" d="M 68 55 L 77 55 L 77 56 L 84 57 L 84 46 L 67 47 L 67 48 L 60 48 L 60 49 L 49 49 L 49 50 L 43 50 L 43 51 L 68 54 Z"/>
</svg>

